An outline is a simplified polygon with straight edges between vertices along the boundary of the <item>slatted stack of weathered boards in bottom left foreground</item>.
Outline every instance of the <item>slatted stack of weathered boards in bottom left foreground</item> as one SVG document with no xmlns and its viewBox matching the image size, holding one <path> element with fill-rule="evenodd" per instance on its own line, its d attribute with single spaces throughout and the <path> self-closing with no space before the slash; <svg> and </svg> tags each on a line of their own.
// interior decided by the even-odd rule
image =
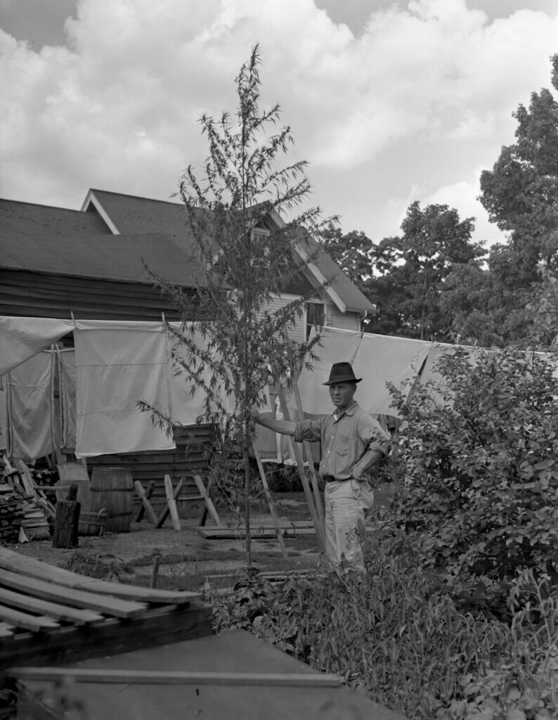
<svg viewBox="0 0 558 720">
<path fill-rule="evenodd" d="M 199 593 L 96 580 L 0 546 L 0 672 L 211 632 Z"/>
</svg>

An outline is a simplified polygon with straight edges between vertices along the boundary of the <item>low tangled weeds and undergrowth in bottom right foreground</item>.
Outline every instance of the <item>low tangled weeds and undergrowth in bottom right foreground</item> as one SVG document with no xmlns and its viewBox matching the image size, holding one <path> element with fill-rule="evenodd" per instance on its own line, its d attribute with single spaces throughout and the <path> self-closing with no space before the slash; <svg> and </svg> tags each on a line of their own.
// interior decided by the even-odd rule
<svg viewBox="0 0 558 720">
<path fill-rule="evenodd" d="M 534 577 L 511 624 L 459 610 L 414 552 L 368 551 L 366 576 L 239 580 L 215 597 L 215 630 L 241 627 L 333 672 L 409 720 L 545 720 L 558 691 L 558 600 Z"/>
</svg>

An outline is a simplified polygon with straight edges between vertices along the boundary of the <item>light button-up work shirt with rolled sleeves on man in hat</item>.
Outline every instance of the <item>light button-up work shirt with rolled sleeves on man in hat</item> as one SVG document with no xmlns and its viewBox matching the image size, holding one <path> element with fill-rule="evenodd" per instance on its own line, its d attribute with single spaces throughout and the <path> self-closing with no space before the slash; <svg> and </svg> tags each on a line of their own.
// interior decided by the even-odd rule
<svg viewBox="0 0 558 720">
<path fill-rule="evenodd" d="M 294 440 L 319 440 L 322 444 L 320 475 L 336 480 L 348 480 L 357 467 L 364 472 L 370 461 L 366 456 L 369 451 L 384 455 L 390 451 L 390 436 L 358 402 L 341 415 L 333 413 L 315 420 L 302 420 L 297 423 Z"/>
</svg>

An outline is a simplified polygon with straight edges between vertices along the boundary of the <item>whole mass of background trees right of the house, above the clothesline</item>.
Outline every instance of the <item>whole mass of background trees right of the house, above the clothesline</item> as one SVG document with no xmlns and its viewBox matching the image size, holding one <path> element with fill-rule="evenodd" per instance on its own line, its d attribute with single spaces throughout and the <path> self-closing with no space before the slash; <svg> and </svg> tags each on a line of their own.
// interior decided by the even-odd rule
<svg viewBox="0 0 558 720">
<path fill-rule="evenodd" d="M 558 91 L 558 55 L 552 58 Z M 410 204 L 402 233 L 374 245 L 357 230 L 323 233 L 323 245 L 377 306 L 366 330 L 482 346 L 546 349 L 558 337 L 558 102 L 552 92 L 519 105 L 516 141 L 482 172 L 480 201 L 507 233 L 486 251 L 474 218 L 447 205 Z"/>
</svg>

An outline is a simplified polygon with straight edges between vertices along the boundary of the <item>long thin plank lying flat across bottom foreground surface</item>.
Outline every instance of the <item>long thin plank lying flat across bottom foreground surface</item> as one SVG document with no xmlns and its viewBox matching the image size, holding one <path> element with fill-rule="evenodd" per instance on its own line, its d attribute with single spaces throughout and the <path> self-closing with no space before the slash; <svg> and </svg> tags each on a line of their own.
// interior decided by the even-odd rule
<svg viewBox="0 0 558 720">
<path fill-rule="evenodd" d="M 96 667 L 12 667 L 6 675 L 18 680 L 71 679 L 76 683 L 146 685 L 287 685 L 338 688 L 343 680 L 321 672 L 189 672 L 187 670 L 102 670 Z"/>
</svg>

